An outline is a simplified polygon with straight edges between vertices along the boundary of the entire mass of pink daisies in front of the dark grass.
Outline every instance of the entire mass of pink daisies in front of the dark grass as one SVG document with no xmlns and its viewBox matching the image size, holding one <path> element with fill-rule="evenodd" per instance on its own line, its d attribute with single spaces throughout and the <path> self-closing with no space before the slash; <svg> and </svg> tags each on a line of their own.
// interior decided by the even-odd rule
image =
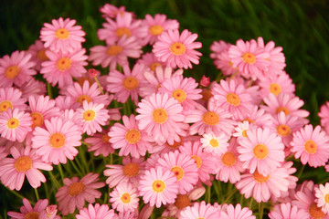
<svg viewBox="0 0 329 219">
<path fill-rule="evenodd" d="M 90 159 L 104 158 L 100 172 L 64 172 L 58 205 L 23 199 L 21 213 L 9 216 L 136 219 L 160 208 L 166 218 L 255 219 L 240 203 L 200 201 L 206 187 L 223 182 L 246 199 L 271 202 L 270 218 L 329 218 L 329 183 L 298 182 L 292 167 L 294 157 L 329 172 L 329 102 L 313 127 L 281 47 L 261 37 L 214 42 L 210 57 L 223 77 L 199 84 L 184 75 L 202 55 L 197 34 L 164 15 L 137 19 L 124 6 L 106 4 L 101 13 L 97 36 L 106 46 L 90 55 L 81 26 L 60 17 L 27 51 L 0 58 L 1 183 L 19 191 L 27 176 L 37 189 L 49 180 L 42 171 L 61 172 L 86 147 Z M 105 73 L 87 70 L 88 61 Z M 122 159 L 112 163 L 110 154 Z"/>
</svg>

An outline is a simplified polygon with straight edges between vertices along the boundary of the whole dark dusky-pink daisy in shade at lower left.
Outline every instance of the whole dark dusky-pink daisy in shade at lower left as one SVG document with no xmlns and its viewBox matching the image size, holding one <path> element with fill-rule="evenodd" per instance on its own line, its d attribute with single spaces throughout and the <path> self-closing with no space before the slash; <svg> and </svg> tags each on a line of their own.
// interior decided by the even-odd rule
<svg viewBox="0 0 329 219">
<path fill-rule="evenodd" d="M 58 189 L 56 200 L 58 201 L 58 210 L 65 216 L 72 214 L 75 209 L 83 208 L 85 201 L 95 203 L 95 199 L 101 198 L 101 192 L 97 191 L 105 183 L 97 182 L 99 174 L 90 172 L 81 179 L 73 177 L 63 180 L 64 186 Z"/>
</svg>

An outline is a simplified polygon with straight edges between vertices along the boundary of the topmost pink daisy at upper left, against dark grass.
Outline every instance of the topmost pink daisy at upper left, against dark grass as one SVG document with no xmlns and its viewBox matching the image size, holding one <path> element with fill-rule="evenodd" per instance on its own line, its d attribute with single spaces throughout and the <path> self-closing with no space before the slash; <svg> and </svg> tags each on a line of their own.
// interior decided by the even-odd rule
<svg viewBox="0 0 329 219">
<path fill-rule="evenodd" d="M 86 33 L 81 26 L 75 26 L 76 20 L 59 17 L 52 19 L 51 24 L 45 23 L 40 31 L 40 39 L 44 46 L 54 52 L 73 52 L 80 49 L 81 43 L 86 41 L 83 36 Z"/>
</svg>

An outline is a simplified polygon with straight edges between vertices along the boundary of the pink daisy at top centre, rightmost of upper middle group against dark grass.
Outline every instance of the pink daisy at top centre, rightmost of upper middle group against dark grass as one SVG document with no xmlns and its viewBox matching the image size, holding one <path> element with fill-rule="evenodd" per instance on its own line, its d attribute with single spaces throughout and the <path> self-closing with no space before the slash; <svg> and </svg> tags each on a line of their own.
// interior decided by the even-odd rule
<svg viewBox="0 0 329 219">
<path fill-rule="evenodd" d="M 168 29 L 154 43 L 155 57 L 166 62 L 171 68 L 192 68 L 192 63 L 198 64 L 202 54 L 196 48 L 202 47 L 200 42 L 195 42 L 197 34 L 192 34 L 187 29 L 179 34 L 178 29 Z"/>
</svg>

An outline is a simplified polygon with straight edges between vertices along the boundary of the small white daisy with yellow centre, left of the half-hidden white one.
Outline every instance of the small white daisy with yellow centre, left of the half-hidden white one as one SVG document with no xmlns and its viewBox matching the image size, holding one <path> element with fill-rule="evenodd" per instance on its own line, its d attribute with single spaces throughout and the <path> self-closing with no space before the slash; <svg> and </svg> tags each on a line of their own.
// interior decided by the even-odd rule
<svg viewBox="0 0 329 219">
<path fill-rule="evenodd" d="M 216 155 L 221 155 L 228 150 L 228 135 L 220 133 L 215 135 L 212 131 L 203 134 L 200 139 L 204 151 L 212 152 Z"/>
</svg>

